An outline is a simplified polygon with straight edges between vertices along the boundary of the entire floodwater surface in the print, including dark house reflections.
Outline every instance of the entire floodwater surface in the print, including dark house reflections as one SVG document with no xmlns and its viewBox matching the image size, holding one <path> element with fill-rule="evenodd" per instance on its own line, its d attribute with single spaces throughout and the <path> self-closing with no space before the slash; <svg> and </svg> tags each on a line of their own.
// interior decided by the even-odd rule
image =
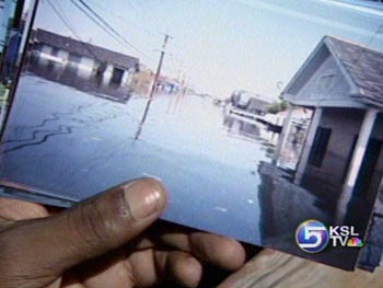
<svg viewBox="0 0 383 288">
<path fill-rule="evenodd" d="M 165 220 L 353 267 L 357 250 L 298 249 L 299 223 L 330 221 L 334 203 L 270 165 L 276 136 L 263 126 L 227 115 L 209 97 L 158 93 L 135 139 L 147 99 L 93 76 L 33 67 L 20 78 L 2 139 L 3 184 L 79 201 L 153 176 L 170 193 Z"/>
</svg>

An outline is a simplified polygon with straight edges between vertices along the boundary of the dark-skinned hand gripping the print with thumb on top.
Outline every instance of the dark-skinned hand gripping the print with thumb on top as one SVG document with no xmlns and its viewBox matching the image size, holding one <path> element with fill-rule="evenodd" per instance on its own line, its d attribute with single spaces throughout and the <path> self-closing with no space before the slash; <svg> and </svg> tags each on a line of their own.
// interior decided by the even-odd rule
<svg viewBox="0 0 383 288">
<path fill-rule="evenodd" d="M 0 287 L 195 287 L 204 262 L 243 265 L 239 242 L 158 221 L 166 198 L 151 178 L 55 212 L 0 198 Z"/>
</svg>

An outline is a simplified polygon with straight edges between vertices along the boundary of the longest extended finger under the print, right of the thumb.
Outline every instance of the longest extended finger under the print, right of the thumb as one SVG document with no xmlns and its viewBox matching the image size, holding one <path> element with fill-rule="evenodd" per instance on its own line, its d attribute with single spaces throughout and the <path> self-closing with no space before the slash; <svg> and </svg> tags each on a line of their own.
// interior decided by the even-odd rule
<svg viewBox="0 0 383 288">
<path fill-rule="evenodd" d="M 156 227 L 154 233 L 163 244 L 225 269 L 237 269 L 245 262 L 244 247 L 232 239 L 169 224 Z"/>
</svg>

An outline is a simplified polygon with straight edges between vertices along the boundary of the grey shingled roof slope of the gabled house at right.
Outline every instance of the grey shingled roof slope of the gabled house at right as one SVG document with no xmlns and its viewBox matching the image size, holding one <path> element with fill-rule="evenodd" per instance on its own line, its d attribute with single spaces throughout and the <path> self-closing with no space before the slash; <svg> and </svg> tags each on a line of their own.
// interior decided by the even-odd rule
<svg viewBox="0 0 383 288">
<path fill-rule="evenodd" d="M 359 90 L 352 97 L 383 107 L 383 54 L 335 37 L 326 36 L 324 42 Z"/>
</svg>

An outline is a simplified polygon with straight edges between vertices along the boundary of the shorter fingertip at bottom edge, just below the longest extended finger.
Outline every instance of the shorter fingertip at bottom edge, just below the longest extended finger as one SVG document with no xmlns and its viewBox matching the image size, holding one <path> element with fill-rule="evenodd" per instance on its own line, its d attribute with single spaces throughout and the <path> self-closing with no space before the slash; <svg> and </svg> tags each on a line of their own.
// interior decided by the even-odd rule
<svg viewBox="0 0 383 288">
<path fill-rule="evenodd" d="M 182 251 L 154 252 L 158 274 L 186 287 L 197 287 L 202 277 L 201 264 L 189 253 Z"/>
</svg>

